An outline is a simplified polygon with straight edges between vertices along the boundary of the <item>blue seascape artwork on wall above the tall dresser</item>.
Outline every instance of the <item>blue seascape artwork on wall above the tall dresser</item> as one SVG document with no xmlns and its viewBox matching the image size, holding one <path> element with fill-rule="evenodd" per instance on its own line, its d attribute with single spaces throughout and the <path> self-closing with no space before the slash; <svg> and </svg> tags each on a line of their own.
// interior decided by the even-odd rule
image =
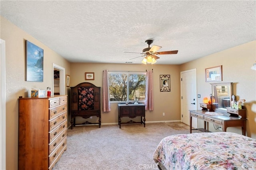
<svg viewBox="0 0 256 170">
<path fill-rule="evenodd" d="M 26 81 L 43 82 L 44 50 L 26 40 Z"/>
</svg>

